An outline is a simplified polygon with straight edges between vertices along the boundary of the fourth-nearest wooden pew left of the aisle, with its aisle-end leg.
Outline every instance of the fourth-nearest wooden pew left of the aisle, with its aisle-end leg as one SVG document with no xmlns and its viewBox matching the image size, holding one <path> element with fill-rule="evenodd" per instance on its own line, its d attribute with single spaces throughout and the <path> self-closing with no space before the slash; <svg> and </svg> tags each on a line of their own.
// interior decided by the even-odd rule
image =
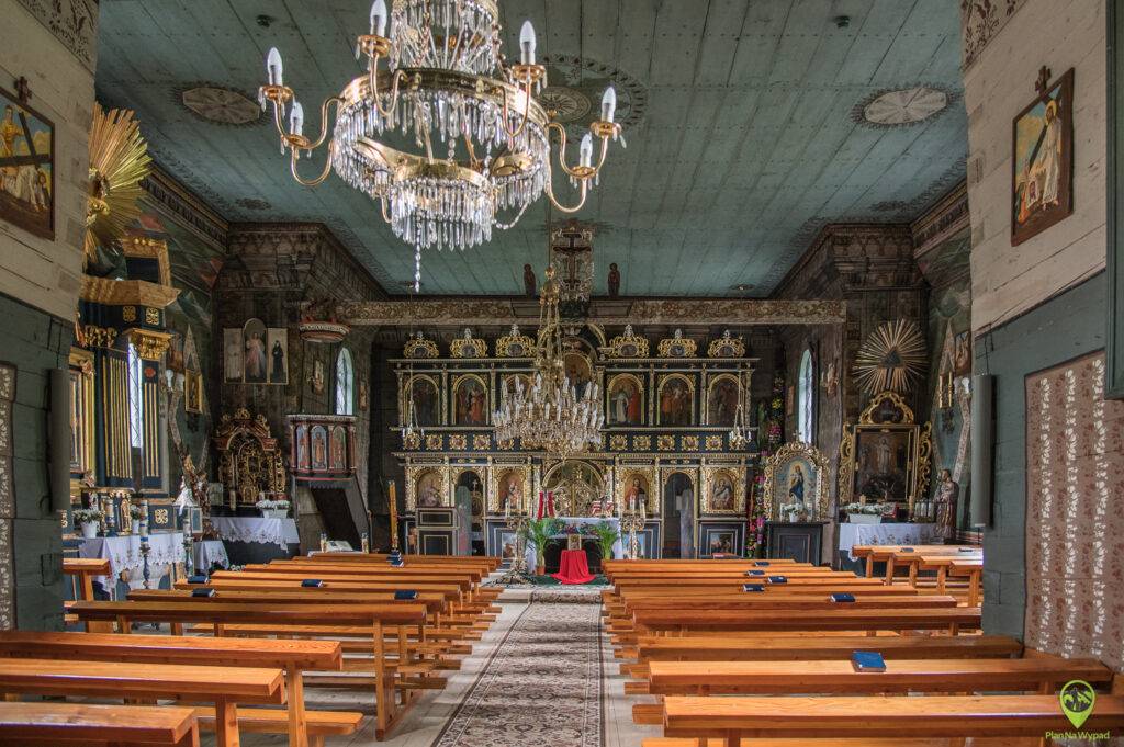
<svg viewBox="0 0 1124 747">
<path fill-rule="evenodd" d="M 423 604 L 288 604 L 274 603 L 199 603 L 192 602 L 78 602 L 74 613 L 84 620 L 117 621 L 123 631 L 133 621 L 206 622 L 215 626 L 216 636 L 224 627 L 237 623 L 274 627 L 284 635 L 287 626 L 355 626 L 365 629 L 372 641 L 375 666 L 375 734 L 382 739 L 400 717 L 395 677 L 388 672 L 384 626 L 397 630 L 399 666 L 409 664 L 410 656 L 404 629 L 414 626 L 419 640 L 425 640 L 426 608 Z M 411 694 L 402 691 L 404 705 Z"/>
</svg>

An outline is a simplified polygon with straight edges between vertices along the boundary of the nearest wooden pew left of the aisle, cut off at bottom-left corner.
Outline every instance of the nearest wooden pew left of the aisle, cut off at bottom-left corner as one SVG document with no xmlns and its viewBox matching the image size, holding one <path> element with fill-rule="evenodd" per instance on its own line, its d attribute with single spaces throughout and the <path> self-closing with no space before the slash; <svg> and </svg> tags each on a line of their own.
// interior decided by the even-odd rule
<svg viewBox="0 0 1124 747">
<path fill-rule="evenodd" d="M 0 702 L 0 744 L 144 744 L 199 747 L 193 709 Z"/>
</svg>

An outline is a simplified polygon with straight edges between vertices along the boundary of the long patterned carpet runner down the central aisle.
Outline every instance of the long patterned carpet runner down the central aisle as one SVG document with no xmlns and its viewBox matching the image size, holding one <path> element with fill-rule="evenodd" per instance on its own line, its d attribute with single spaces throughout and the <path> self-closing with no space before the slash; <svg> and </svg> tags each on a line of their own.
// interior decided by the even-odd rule
<svg viewBox="0 0 1124 747">
<path fill-rule="evenodd" d="M 528 604 L 435 747 L 601 747 L 600 608 Z"/>
</svg>

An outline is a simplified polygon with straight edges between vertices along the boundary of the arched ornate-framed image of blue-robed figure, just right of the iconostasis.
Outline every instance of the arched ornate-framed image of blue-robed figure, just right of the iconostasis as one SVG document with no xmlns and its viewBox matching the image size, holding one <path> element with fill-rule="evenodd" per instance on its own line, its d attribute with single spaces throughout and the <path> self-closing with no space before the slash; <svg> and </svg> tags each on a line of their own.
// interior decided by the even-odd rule
<svg viewBox="0 0 1124 747">
<path fill-rule="evenodd" d="M 830 517 L 827 458 L 815 446 L 785 444 L 765 463 L 765 495 L 773 521 L 822 521 Z"/>
</svg>

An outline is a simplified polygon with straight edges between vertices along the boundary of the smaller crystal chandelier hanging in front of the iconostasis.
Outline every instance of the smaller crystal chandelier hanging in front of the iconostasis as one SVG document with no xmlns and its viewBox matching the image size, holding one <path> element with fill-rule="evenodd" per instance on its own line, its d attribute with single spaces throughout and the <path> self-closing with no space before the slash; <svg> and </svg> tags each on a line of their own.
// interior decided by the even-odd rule
<svg viewBox="0 0 1124 747">
<path fill-rule="evenodd" d="M 546 268 L 538 299 L 538 337 L 535 343 L 535 380 L 525 388 L 515 380 L 514 391 L 504 388 L 499 409 L 492 413 L 496 439 L 525 448 L 543 449 L 559 458 L 601 444 L 605 415 L 595 382 L 579 393 L 565 375 L 562 327 L 559 322 L 559 284 L 554 268 Z"/>
</svg>

